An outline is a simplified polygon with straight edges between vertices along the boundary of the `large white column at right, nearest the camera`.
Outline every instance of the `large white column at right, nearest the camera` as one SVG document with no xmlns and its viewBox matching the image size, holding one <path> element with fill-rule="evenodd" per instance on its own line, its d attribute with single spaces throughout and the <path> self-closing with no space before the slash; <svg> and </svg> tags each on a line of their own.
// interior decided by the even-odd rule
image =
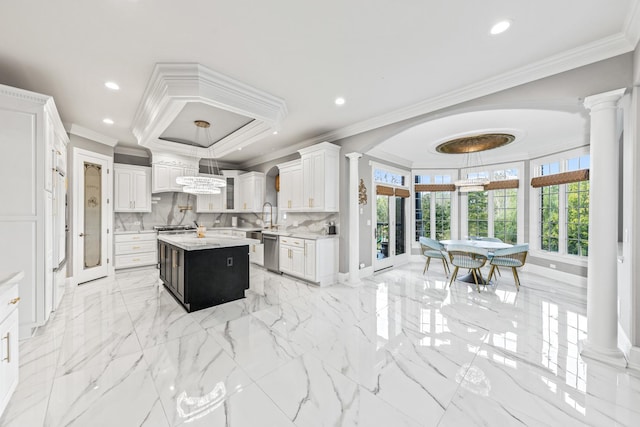
<svg viewBox="0 0 640 427">
<path fill-rule="evenodd" d="M 580 354 L 626 366 L 618 348 L 618 100 L 625 89 L 589 96 L 591 161 L 589 167 L 589 271 L 587 340 Z"/>
</svg>

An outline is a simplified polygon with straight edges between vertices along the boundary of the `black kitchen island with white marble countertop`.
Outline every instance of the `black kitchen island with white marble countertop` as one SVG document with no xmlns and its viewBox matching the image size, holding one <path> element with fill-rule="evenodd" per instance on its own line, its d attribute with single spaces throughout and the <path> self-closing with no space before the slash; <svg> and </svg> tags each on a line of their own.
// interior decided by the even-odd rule
<svg viewBox="0 0 640 427">
<path fill-rule="evenodd" d="M 255 243 L 232 236 L 160 235 L 160 280 L 188 312 L 244 298 L 249 245 Z"/>
</svg>

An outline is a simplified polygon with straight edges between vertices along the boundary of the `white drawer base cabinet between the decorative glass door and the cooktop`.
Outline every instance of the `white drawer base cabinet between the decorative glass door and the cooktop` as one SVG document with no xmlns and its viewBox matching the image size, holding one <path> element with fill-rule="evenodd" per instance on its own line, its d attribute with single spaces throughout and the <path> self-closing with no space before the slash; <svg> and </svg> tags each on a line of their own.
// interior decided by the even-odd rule
<svg viewBox="0 0 640 427">
<path fill-rule="evenodd" d="M 115 235 L 115 268 L 142 267 L 158 262 L 155 232 Z"/>
</svg>

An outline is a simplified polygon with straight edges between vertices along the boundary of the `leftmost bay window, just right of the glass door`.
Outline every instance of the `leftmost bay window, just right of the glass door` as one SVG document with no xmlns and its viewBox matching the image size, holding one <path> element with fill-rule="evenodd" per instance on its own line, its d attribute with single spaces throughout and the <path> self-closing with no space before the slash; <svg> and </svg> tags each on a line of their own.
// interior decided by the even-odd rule
<svg viewBox="0 0 640 427">
<path fill-rule="evenodd" d="M 416 184 L 451 184 L 451 175 L 416 175 Z M 415 192 L 415 240 L 451 238 L 451 191 Z"/>
</svg>

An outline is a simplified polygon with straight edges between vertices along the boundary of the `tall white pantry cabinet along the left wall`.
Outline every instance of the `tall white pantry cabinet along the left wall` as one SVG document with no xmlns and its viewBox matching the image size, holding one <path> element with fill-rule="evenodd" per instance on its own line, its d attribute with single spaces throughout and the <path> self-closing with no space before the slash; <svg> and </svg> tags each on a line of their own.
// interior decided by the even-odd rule
<svg viewBox="0 0 640 427">
<path fill-rule="evenodd" d="M 59 301 L 53 270 L 60 233 L 53 228 L 60 223 L 52 215 L 56 156 L 68 142 L 52 97 L 0 85 L 0 270 L 24 272 L 21 339 L 45 324 Z"/>
</svg>

